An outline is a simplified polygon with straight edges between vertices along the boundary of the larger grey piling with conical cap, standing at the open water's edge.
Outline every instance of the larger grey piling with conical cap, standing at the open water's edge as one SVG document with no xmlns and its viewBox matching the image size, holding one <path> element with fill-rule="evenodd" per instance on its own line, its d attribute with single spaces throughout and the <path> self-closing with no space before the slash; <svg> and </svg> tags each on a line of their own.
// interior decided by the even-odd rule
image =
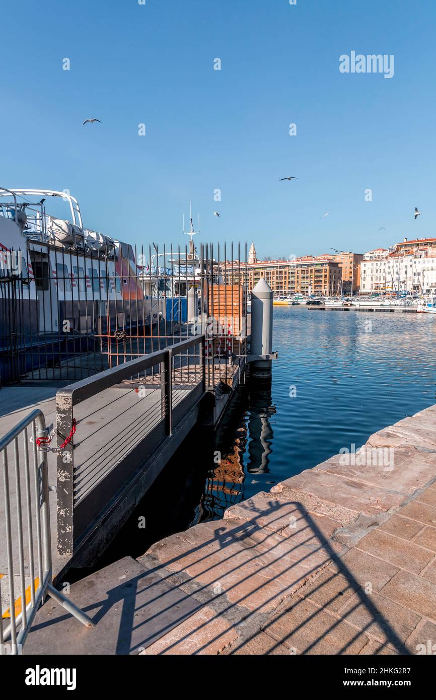
<svg viewBox="0 0 436 700">
<path fill-rule="evenodd" d="M 272 302 L 274 293 L 267 281 L 260 278 L 251 292 L 251 354 L 269 355 L 272 352 Z M 272 360 L 250 363 L 252 377 L 269 379 Z"/>
</svg>

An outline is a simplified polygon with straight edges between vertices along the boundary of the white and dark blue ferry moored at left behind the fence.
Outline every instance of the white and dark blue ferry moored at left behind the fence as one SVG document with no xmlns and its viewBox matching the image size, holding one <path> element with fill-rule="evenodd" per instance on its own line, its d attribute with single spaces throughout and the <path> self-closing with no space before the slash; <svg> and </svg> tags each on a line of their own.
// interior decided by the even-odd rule
<svg viewBox="0 0 436 700">
<path fill-rule="evenodd" d="M 55 200 L 55 198 L 57 198 Z M 69 219 L 48 214 L 49 202 Z M 69 349 L 150 328 L 162 316 L 145 299 L 134 250 L 85 228 L 75 197 L 0 188 L 0 380 L 16 381 Z"/>
</svg>

